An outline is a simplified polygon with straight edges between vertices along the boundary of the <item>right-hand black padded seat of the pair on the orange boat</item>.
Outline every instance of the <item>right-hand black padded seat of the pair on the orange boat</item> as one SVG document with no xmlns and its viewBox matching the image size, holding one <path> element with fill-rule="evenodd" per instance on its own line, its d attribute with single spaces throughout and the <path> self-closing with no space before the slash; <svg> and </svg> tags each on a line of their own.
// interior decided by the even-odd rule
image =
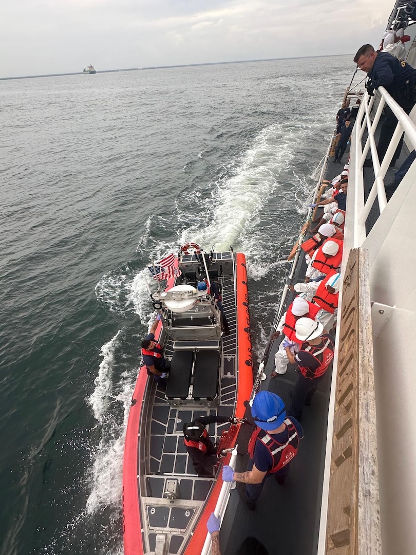
<svg viewBox="0 0 416 555">
<path fill-rule="evenodd" d="M 220 354 L 218 351 L 197 351 L 194 370 L 194 399 L 213 399 L 218 393 Z"/>
</svg>

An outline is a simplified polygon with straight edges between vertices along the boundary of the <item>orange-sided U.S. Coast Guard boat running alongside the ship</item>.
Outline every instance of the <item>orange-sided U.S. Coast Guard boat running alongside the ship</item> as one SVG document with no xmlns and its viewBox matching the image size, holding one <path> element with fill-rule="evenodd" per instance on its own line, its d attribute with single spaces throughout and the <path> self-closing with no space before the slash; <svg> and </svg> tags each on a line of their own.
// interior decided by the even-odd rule
<svg viewBox="0 0 416 555">
<path fill-rule="evenodd" d="M 245 256 L 228 243 L 210 251 L 188 243 L 175 266 L 180 275 L 165 287 L 152 279 L 148 284 L 161 315 L 155 338 L 171 369 L 164 390 L 142 365 L 131 400 L 123 466 L 125 555 L 206 550 L 206 521 L 221 503 L 222 512 L 226 508 L 221 467 L 231 454 L 215 476 L 199 477 L 182 428 L 200 416 L 242 418 L 253 387 Z M 198 287 L 202 280 L 205 290 Z M 211 424 L 207 431 L 231 451 L 239 425 Z"/>
</svg>

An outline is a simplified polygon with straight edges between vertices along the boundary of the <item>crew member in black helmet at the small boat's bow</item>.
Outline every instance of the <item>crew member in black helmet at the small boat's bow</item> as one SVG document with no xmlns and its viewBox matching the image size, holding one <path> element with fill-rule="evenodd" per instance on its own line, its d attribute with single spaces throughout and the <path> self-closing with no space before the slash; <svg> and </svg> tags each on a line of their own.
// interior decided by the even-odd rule
<svg viewBox="0 0 416 555">
<path fill-rule="evenodd" d="M 215 474 L 214 466 L 222 458 L 217 456 L 217 448 L 205 430 L 205 426 L 214 422 L 216 424 L 225 422 L 238 424 L 242 420 L 235 416 L 200 416 L 196 420 L 184 424 L 184 445 L 199 477 L 212 478 Z"/>
</svg>

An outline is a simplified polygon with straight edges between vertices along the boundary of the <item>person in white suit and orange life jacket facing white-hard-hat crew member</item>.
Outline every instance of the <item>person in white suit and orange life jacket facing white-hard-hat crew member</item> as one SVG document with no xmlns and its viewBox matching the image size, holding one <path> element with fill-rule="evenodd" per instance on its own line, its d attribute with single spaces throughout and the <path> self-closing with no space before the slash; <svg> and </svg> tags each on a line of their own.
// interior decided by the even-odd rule
<svg viewBox="0 0 416 555">
<path fill-rule="evenodd" d="M 270 377 L 275 378 L 279 374 L 285 374 L 288 363 L 286 347 L 290 347 L 292 354 L 295 354 L 295 352 L 301 348 L 301 341 L 295 336 L 296 320 L 300 319 L 302 316 L 313 319 L 318 311 L 318 306 L 314 305 L 312 302 L 308 302 L 306 299 L 302 299 L 302 297 L 295 297 L 295 299 L 293 299 L 293 302 L 288 306 L 287 311 L 277 324 L 276 331 L 272 334 L 272 339 L 276 339 L 281 332 L 285 335 L 276 352 L 275 367 Z"/>
</svg>

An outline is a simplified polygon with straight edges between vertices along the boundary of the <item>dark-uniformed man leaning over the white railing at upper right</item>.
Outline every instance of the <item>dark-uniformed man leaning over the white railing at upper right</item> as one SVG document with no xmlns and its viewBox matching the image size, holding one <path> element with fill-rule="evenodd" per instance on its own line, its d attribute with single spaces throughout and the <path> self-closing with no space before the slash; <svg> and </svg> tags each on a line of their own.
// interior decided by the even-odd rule
<svg viewBox="0 0 416 555">
<path fill-rule="evenodd" d="M 384 87 L 394 100 L 409 114 L 416 102 L 416 69 L 403 60 L 399 60 L 388 52 L 376 52 L 371 44 L 364 44 L 354 57 L 358 67 L 368 73 L 367 91 L 372 94 L 374 89 Z M 377 153 L 380 162 L 393 137 L 397 118 L 392 110 L 385 106 L 385 120 L 380 130 Z M 394 165 L 402 149 L 403 135 L 393 154 Z M 368 165 L 368 164 L 366 164 Z"/>
</svg>

